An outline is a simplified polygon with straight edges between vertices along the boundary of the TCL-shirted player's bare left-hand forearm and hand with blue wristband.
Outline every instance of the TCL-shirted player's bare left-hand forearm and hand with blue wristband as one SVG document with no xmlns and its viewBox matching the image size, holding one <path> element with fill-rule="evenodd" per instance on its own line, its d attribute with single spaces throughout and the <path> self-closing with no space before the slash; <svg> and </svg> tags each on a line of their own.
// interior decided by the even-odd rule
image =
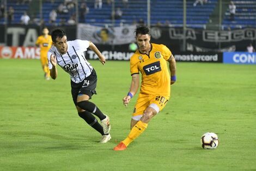
<svg viewBox="0 0 256 171">
<path fill-rule="evenodd" d="M 130 91 L 127 94 L 127 96 L 123 98 L 123 104 L 125 106 L 127 106 L 127 104 L 130 103 L 131 98 L 137 93 L 138 88 L 139 88 L 139 74 L 133 74 Z"/>
</svg>

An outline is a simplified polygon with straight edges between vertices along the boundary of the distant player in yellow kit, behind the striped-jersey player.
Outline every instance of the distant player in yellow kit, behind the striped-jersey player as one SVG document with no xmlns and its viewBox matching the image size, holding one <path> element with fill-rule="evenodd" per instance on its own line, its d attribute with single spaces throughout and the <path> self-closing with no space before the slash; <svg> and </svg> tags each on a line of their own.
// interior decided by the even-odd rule
<svg viewBox="0 0 256 171">
<path fill-rule="evenodd" d="M 37 47 L 40 47 L 40 60 L 42 64 L 42 69 L 45 72 L 45 79 L 50 79 L 50 70 L 48 67 L 48 60 L 47 60 L 47 52 L 52 47 L 52 37 L 48 35 L 49 30 L 45 27 L 42 30 L 42 35 L 38 37 L 35 42 Z"/>
</svg>

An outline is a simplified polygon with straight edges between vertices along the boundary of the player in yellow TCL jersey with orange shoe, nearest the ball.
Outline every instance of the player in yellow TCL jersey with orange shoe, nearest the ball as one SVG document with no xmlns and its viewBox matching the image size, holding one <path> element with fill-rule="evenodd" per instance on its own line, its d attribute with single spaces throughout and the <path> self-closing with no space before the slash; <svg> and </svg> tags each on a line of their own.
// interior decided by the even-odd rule
<svg viewBox="0 0 256 171">
<path fill-rule="evenodd" d="M 170 85 L 176 81 L 176 61 L 172 52 L 164 46 L 150 43 L 149 28 L 139 26 L 135 30 L 139 49 L 131 56 L 132 75 L 130 91 L 123 98 L 125 106 L 139 88 L 139 72 L 142 74 L 141 90 L 131 119 L 131 131 L 114 150 L 125 150 L 127 146 L 147 129 L 148 123 L 170 98 Z M 170 74 L 167 62 L 169 63 Z"/>
</svg>

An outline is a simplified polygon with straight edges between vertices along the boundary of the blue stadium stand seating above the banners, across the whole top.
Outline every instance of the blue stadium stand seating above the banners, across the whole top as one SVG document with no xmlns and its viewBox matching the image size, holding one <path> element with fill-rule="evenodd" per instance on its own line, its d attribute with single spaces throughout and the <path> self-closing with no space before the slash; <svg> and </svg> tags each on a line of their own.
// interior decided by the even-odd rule
<svg viewBox="0 0 256 171">
<path fill-rule="evenodd" d="M 58 9 L 58 6 L 63 1 L 50 0 L 42 1 L 42 17 L 45 25 L 49 25 L 49 14 L 53 9 Z M 78 5 L 80 7 L 81 1 Z M 80 23 L 88 23 L 95 26 L 106 26 L 106 24 L 119 26 L 121 24 L 138 23 L 139 20 L 147 22 L 147 3 L 144 0 L 130 0 L 128 7 L 125 7 L 122 0 L 115 0 L 114 7 L 120 8 L 123 11 L 123 15 L 118 20 L 112 21 L 112 5 L 103 1 L 101 9 L 94 8 L 94 1 L 86 1 L 87 7 L 89 7 L 89 13 L 85 19 Z M 193 6 L 194 0 L 187 0 L 187 27 L 190 28 L 205 28 L 209 23 L 209 18 L 218 4 L 218 0 L 210 0 L 203 5 L 197 4 Z M 243 27 L 255 27 L 256 25 L 256 1 L 255 0 L 234 0 L 236 5 L 235 20 L 231 21 L 229 17 L 229 10 L 227 9 L 223 17 L 223 28 L 243 28 Z M 159 26 L 172 26 L 182 27 L 183 24 L 183 1 L 167 1 L 167 0 L 152 0 L 151 7 L 151 24 Z M 31 5 L 31 4 L 30 4 Z M 24 11 L 33 9 L 29 7 L 28 3 L 17 5 L 16 1 L 7 1 L 7 8 L 13 7 L 15 10 L 13 24 L 20 23 L 20 17 Z M 29 14 L 29 11 L 28 11 Z M 68 21 L 70 16 L 75 14 L 75 8 L 69 9 L 67 13 L 62 13 L 57 16 L 57 25 L 64 21 Z M 79 12 L 78 12 L 79 14 Z M 40 18 L 39 12 L 33 18 Z M 31 21 L 33 21 L 33 18 Z M 4 18 L 0 19 L 0 24 L 4 23 Z M 33 23 L 33 22 L 31 22 Z"/>
</svg>

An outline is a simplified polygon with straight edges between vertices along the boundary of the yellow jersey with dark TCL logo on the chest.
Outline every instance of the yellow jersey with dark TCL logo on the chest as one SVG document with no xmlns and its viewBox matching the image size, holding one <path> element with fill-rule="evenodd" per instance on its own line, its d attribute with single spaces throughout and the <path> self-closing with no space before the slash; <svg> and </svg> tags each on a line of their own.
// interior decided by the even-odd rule
<svg viewBox="0 0 256 171">
<path fill-rule="evenodd" d="M 137 50 L 131 56 L 131 75 L 142 74 L 140 94 L 170 97 L 170 74 L 166 61 L 171 55 L 166 46 L 151 43 L 149 55 Z"/>
</svg>

